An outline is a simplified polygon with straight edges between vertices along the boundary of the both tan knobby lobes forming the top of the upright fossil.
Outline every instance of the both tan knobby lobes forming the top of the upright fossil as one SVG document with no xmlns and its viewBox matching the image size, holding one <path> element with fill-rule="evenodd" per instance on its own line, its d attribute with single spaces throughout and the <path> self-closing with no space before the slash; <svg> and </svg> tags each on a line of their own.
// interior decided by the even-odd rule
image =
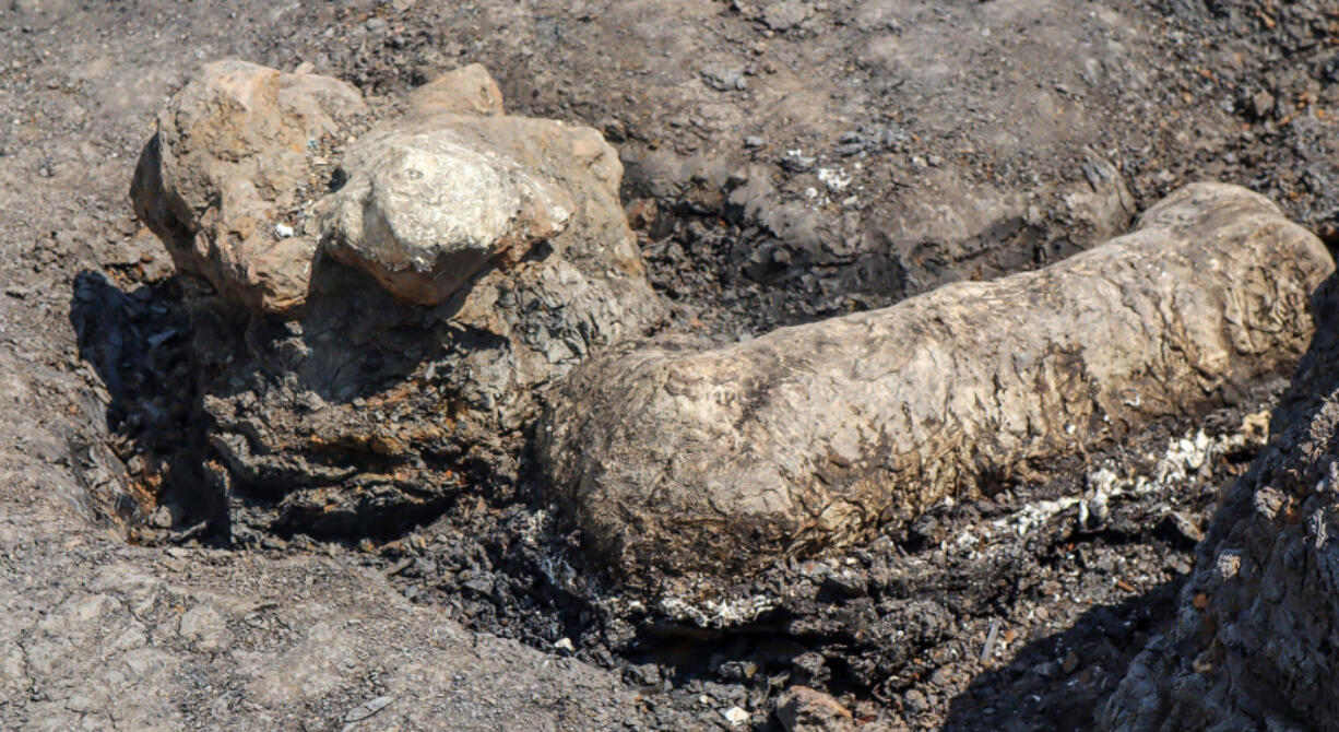
<svg viewBox="0 0 1339 732">
<path fill-rule="evenodd" d="M 613 150 L 593 130 L 503 117 L 479 64 L 424 84 L 406 115 L 351 143 L 347 182 L 309 206 L 300 193 L 316 142 L 363 111 L 335 79 L 209 64 L 159 117 L 133 185 L 135 210 L 181 271 L 265 312 L 305 303 L 321 240 L 395 296 L 442 302 L 560 235 L 577 206 L 595 204 L 588 182 L 608 186 L 613 206 L 595 204 L 584 220 L 596 229 L 582 235 L 631 241 Z M 640 275 L 639 257 L 620 259 Z"/>
</svg>

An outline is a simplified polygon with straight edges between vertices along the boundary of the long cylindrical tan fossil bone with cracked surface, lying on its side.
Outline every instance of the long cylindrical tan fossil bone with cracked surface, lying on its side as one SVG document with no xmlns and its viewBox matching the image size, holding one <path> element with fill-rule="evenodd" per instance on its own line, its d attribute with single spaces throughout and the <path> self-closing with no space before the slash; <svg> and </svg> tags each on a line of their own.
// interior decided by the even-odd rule
<svg viewBox="0 0 1339 732">
<path fill-rule="evenodd" d="M 1267 198 L 1189 185 L 1034 272 L 714 350 L 611 349 L 550 401 L 540 457 L 611 566 L 746 571 L 1231 400 L 1291 367 L 1332 269 Z"/>
</svg>

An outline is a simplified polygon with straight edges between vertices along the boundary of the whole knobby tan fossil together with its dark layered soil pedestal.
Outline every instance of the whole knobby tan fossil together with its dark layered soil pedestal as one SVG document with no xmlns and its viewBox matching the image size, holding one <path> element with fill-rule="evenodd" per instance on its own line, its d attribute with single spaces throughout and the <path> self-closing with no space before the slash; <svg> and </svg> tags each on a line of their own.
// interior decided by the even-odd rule
<svg viewBox="0 0 1339 732">
<path fill-rule="evenodd" d="M 252 139 L 249 126 L 273 122 L 265 110 L 222 105 L 189 137 L 170 134 L 165 121 L 181 119 L 187 101 L 218 95 L 218 68 L 279 74 L 206 67 L 159 122 L 155 145 L 174 150 L 181 172 L 158 176 L 169 158 L 150 145 L 134 188 L 137 210 L 158 216 L 157 229 L 197 243 L 213 235 L 178 216 L 169 182 L 214 180 L 209 141 Z M 309 244 L 285 251 L 301 256 L 265 269 L 272 237 L 189 256 L 173 249 L 191 280 L 210 417 L 204 481 L 234 535 L 402 527 L 432 516 L 462 485 L 505 500 L 542 389 L 660 318 L 619 202 L 623 168 L 597 131 L 503 114 L 479 66 L 403 102 L 403 114 L 355 139 L 356 130 L 335 129 L 329 150 L 295 158 L 301 174 L 276 178 L 274 198 L 300 213 L 289 239 Z M 257 156 L 254 165 L 269 160 Z M 327 156 L 339 174 L 315 161 Z M 312 170 L 325 174 L 315 188 Z M 343 185 L 327 192 L 331 178 Z M 225 220 L 273 215 L 233 202 L 212 205 Z M 276 271 L 284 298 L 248 295 L 248 278 Z"/>
</svg>

